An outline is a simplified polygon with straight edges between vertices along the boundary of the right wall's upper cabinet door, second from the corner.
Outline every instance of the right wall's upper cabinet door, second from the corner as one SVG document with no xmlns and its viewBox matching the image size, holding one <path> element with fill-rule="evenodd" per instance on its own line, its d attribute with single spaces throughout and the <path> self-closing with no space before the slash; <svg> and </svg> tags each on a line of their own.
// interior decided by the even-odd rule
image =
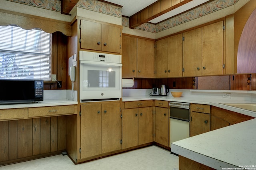
<svg viewBox="0 0 256 170">
<path fill-rule="evenodd" d="M 182 77 L 182 36 L 168 38 L 168 77 Z"/>
</svg>

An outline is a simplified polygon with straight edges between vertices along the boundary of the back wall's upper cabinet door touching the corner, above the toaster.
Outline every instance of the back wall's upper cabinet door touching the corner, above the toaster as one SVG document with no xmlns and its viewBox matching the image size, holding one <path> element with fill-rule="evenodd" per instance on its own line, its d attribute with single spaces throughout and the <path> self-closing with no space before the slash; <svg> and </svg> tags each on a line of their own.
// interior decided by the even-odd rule
<svg viewBox="0 0 256 170">
<path fill-rule="evenodd" d="M 154 41 L 137 39 L 137 77 L 154 78 Z"/>
</svg>

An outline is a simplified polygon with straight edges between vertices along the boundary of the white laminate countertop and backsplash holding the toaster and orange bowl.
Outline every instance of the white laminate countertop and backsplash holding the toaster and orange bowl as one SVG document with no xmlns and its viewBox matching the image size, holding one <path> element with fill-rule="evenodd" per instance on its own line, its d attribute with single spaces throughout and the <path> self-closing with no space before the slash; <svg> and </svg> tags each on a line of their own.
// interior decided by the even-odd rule
<svg viewBox="0 0 256 170">
<path fill-rule="evenodd" d="M 134 90 L 132 94 L 140 94 L 139 90 Z M 143 90 L 142 90 L 143 91 Z M 227 91 L 224 91 L 227 92 Z M 208 104 L 211 106 L 220 107 L 222 109 L 227 109 L 230 111 L 234 111 L 237 113 L 241 113 L 244 115 L 249 115 L 252 117 L 256 117 L 255 111 L 250 111 L 246 109 L 241 109 L 233 106 L 227 106 L 221 103 L 247 103 L 247 104 L 255 104 L 256 101 L 253 101 L 252 99 L 255 99 L 256 94 L 248 94 L 248 92 L 239 93 L 237 91 L 228 91 L 231 93 L 231 98 L 223 98 L 222 97 L 222 91 L 221 90 L 209 90 L 209 91 L 203 91 L 203 90 L 184 90 L 183 94 L 179 98 L 174 98 L 171 95 L 170 96 L 150 96 L 150 91 L 145 93 L 148 93 L 148 95 L 145 95 L 142 93 L 140 96 L 132 95 L 132 96 L 123 96 L 122 102 L 130 102 L 130 101 L 139 101 L 139 100 L 164 100 L 169 102 L 184 102 L 184 103 L 194 103 L 194 104 Z"/>
</svg>

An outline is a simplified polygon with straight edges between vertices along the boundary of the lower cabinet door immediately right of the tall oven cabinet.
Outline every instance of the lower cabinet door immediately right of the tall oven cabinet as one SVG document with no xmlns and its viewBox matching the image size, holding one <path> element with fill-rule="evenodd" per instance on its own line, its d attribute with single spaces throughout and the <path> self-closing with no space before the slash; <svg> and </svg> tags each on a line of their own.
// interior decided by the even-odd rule
<svg viewBox="0 0 256 170">
<path fill-rule="evenodd" d="M 122 149 L 138 145 L 138 109 L 122 111 Z"/>
</svg>

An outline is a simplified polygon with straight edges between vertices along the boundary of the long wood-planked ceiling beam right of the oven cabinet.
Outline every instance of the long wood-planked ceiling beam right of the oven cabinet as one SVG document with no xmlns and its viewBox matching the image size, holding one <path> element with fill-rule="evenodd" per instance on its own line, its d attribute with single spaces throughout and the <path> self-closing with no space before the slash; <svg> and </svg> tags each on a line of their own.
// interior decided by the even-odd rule
<svg viewBox="0 0 256 170">
<path fill-rule="evenodd" d="M 130 16 L 129 27 L 134 29 L 139 25 L 146 23 L 166 12 L 178 8 L 192 0 L 158 0 L 150 6 L 144 8 L 140 12 Z"/>
</svg>

